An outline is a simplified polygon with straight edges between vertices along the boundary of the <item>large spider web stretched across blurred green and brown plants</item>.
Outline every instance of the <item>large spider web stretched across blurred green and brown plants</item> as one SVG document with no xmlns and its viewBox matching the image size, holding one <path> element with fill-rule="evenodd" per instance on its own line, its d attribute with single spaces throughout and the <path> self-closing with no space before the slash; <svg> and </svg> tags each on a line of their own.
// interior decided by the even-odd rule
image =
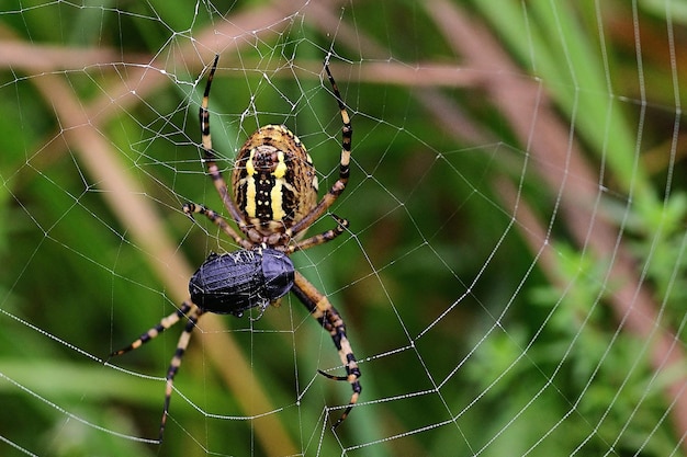
<svg viewBox="0 0 687 457">
<path fill-rule="evenodd" d="M 1 7 L 2 455 L 687 454 L 682 2 L 70 2 Z M 294 297 L 203 316 L 236 247 L 201 163 L 258 126 L 337 178 L 336 241 L 293 255 L 347 323 L 363 392 Z M 311 233 L 331 228 L 325 216 Z"/>
</svg>

